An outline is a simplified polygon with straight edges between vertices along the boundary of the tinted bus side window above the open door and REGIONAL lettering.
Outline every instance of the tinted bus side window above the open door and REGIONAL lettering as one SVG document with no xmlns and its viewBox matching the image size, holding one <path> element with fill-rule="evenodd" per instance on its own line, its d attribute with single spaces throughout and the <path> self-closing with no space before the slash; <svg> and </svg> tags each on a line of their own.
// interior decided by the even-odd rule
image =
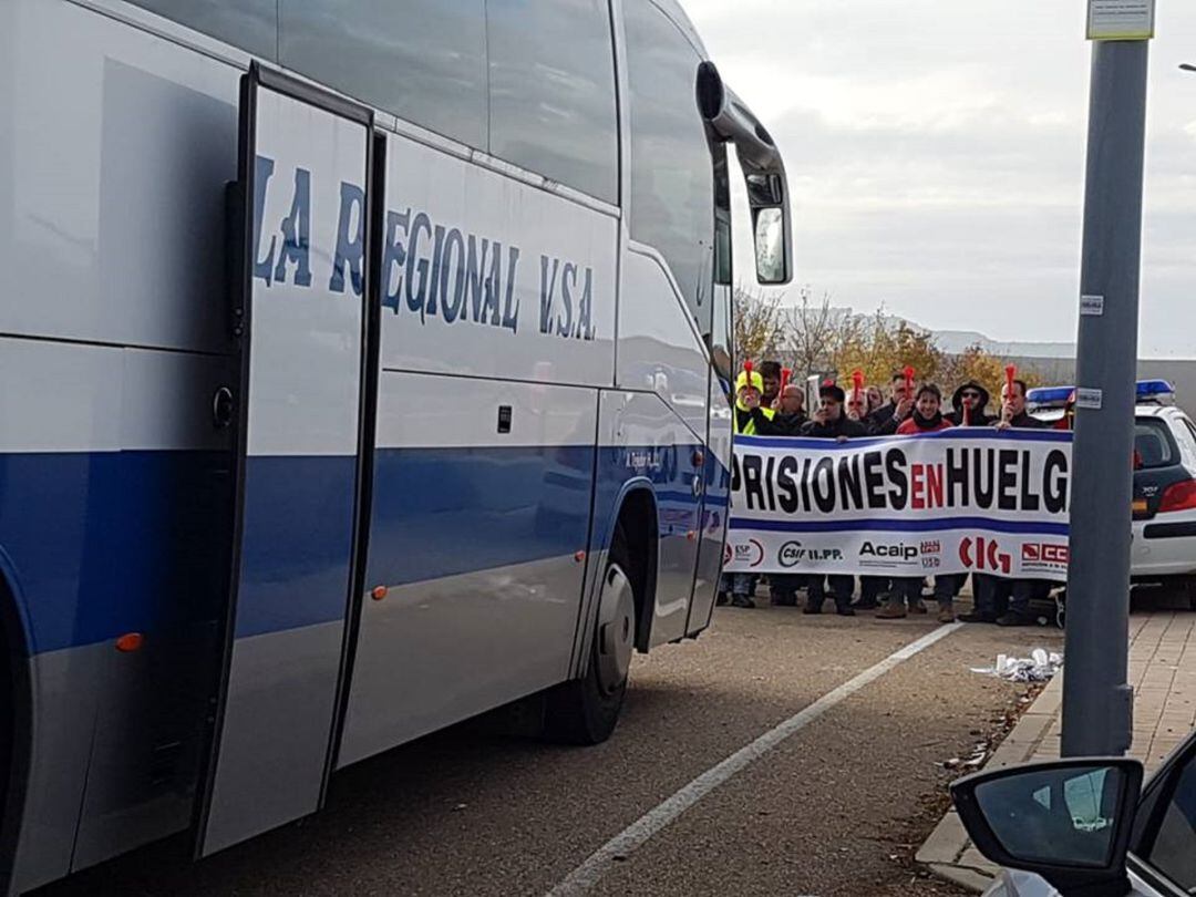
<svg viewBox="0 0 1196 897">
<path fill-rule="evenodd" d="M 279 56 L 364 103 L 487 148 L 483 0 L 280 0 Z"/>
</svg>

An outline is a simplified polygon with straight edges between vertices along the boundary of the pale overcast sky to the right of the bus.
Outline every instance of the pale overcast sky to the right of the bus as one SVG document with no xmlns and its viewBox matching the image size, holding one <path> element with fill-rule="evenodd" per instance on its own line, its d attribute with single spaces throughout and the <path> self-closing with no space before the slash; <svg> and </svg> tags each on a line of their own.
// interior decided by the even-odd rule
<svg viewBox="0 0 1196 897">
<path fill-rule="evenodd" d="M 684 0 L 786 161 L 797 286 L 999 341 L 1075 338 L 1084 0 Z M 1196 358 L 1196 2 L 1158 0 L 1141 358 Z M 736 233 L 750 276 L 750 231 Z"/>
</svg>

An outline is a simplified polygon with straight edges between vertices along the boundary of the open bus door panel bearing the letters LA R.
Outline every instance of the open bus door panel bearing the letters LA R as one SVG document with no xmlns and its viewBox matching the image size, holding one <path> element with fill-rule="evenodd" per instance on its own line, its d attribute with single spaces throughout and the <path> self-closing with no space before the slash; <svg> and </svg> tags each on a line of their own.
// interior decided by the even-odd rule
<svg viewBox="0 0 1196 897">
<path fill-rule="evenodd" d="M 315 812 L 331 768 L 371 443 L 372 128 L 304 83 L 257 66 L 243 79 L 240 377 L 224 396 L 237 489 L 200 855 Z"/>
</svg>

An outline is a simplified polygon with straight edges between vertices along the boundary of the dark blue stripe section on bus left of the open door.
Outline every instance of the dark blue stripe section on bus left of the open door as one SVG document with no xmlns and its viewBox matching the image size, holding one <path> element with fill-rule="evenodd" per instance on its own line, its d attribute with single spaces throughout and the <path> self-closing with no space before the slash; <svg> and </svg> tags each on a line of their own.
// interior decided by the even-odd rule
<svg viewBox="0 0 1196 897">
<path fill-rule="evenodd" d="M 221 452 L 0 454 L 0 550 L 30 651 L 213 620 L 227 466 Z"/>
</svg>

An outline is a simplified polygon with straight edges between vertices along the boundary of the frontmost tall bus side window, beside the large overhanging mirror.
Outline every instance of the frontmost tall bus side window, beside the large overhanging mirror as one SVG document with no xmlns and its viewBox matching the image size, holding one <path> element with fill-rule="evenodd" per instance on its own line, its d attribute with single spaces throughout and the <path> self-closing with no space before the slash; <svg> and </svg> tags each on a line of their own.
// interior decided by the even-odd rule
<svg viewBox="0 0 1196 897">
<path fill-rule="evenodd" d="M 631 114 L 631 237 L 659 251 L 710 330 L 714 177 L 697 108 L 697 53 L 653 4 L 624 7 Z"/>
</svg>

